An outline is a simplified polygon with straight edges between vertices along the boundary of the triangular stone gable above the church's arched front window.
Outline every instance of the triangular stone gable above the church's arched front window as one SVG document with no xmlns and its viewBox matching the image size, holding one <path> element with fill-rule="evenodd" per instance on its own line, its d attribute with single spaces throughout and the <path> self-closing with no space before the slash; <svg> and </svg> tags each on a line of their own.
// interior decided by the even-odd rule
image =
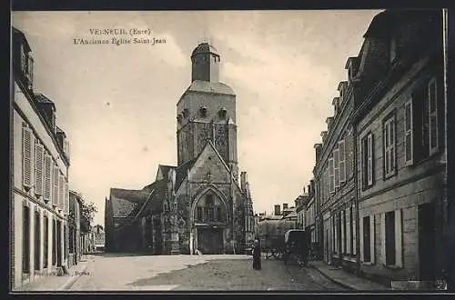
<svg viewBox="0 0 455 300">
<path fill-rule="evenodd" d="M 229 168 L 208 142 L 189 171 L 189 180 L 197 182 L 230 183 Z"/>
</svg>

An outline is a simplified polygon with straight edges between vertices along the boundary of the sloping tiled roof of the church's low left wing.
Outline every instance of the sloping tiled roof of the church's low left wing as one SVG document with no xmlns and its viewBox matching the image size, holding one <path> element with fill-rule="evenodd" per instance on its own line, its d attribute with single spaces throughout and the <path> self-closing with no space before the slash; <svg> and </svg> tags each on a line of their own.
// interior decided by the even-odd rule
<svg viewBox="0 0 455 300">
<path fill-rule="evenodd" d="M 111 188 L 110 199 L 114 217 L 132 217 L 137 214 L 150 193 L 145 190 Z"/>
</svg>

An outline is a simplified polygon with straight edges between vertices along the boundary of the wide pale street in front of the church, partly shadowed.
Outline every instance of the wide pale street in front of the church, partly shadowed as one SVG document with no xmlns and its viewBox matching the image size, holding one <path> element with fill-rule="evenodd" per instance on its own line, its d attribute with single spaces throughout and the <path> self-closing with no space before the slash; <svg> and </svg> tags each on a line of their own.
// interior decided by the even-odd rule
<svg viewBox="0 0 455 300">
<path fill-rule="evenodd" d="M 71 291 L 341 291 L 312 268 L 247 255 L 89 255 Z"/>
</svg>

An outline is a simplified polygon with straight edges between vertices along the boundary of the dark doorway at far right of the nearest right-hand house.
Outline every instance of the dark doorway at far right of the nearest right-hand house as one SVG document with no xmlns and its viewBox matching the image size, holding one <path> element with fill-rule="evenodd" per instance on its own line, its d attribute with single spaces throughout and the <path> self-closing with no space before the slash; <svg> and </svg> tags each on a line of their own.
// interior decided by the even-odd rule
<svg viewBox="0 0 455 300">
<path fill-rule="evenodd" d="M 419 206 L 420 280 L 432 280 L 435 274 L 435 207 L 432 203 Z"/>
</svg>

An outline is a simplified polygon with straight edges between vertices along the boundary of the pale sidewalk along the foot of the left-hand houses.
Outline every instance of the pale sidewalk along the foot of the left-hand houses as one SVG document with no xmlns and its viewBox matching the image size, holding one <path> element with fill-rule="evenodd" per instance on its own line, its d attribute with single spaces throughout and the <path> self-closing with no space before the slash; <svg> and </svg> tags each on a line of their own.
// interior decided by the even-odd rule
<svg viewBox="0 0 455 300">
<path fill-rule="evenodd" d="M 87 257 L 87 259 L 77 262 L 77 265 L 73 265 L 66 275 L 48 275 L 35 279 L 30 285 L 23 288 L 23 291 L 42 292 L 69 289 L 86 272 L 89 260 L 90 258 Z"/>
</svg>

